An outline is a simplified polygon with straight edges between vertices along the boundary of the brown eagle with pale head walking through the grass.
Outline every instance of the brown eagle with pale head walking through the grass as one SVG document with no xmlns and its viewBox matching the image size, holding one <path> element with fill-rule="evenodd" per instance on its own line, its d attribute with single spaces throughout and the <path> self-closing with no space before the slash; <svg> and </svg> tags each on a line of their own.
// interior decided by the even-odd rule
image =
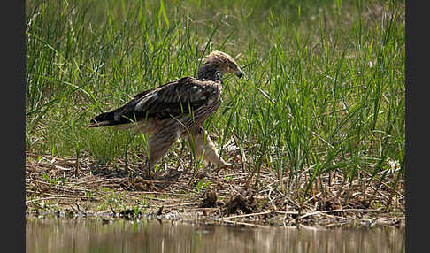
<svg viewBox="0 0 430 253">
<path fill-rule="evenodd" d="M 232 165 L 219 157 L 209 134 L 203 129 L 204 120 L 219 108 L 222 76 L 226 73 L 242 77 L 234 58 L 218 50 L 212 51 L 204 58 L 197 78 L 183 77 L 145 90 L 119 108 L 91 119 L 88 127 L 117 126 L 148 134 L 146 163 L 149 172 L 182 136 L 192 140 L 190 143 L 195 145 L 196 155 L 201 157 L 203 154 L 206 163 L 219 164 L 219 168 Z"/>
</svg>

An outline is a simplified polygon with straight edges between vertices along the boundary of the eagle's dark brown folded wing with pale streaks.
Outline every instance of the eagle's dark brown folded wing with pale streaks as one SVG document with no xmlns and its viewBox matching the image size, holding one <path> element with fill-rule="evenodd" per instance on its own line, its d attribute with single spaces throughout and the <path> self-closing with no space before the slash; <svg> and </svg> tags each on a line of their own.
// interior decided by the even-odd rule
<svg viewBox="0 0 430 253">
<path fill-rule="evenodd" d="M 147 118 L 166 119 L 196 111 L 219 100 L 220 83 L 184 77 L 134 96 L 123 106 L 91 120 L 89 127 L 128 124 Z"/>
</svg>

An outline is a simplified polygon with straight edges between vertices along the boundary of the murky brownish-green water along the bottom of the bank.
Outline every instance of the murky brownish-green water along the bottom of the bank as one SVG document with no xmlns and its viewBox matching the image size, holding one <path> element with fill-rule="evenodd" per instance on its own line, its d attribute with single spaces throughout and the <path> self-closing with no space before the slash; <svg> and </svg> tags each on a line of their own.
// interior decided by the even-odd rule
<svg viewBox="0 0 430 253">
<path fill-rule="evenodd" d="M 405 252 L 404 229 L 254 228 L 27 219 L 27 252 Z"/>
</svg>

